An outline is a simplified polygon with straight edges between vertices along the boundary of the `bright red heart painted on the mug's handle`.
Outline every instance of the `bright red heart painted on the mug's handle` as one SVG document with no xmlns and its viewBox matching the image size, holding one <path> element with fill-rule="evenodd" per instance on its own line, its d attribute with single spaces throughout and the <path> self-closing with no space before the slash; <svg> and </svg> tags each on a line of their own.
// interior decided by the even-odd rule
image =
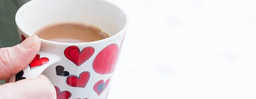
<svg viewBox="0 0 256 99">
<path fill-rule="evenodd" d="M 36 55 L 32 62 L 29 64 L 30 69 L 35 69 L 49 62 L 48 58 L 40 58 L 40 55 Z"/>
</svg>

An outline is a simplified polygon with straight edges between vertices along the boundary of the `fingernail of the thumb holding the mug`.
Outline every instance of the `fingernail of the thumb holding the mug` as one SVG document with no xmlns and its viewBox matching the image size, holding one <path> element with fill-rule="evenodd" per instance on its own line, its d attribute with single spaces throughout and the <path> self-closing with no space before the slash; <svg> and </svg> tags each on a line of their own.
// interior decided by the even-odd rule
<svg viewBox="0 0 256 99">
<path fill-rule="evenodd" d="M 20 44 L 20 47 L 23 49 L 30 49 L 30 48 L 34 47 L 36 38 L 37 38 L 37 36 L 35 36 L 35 35 L 29 36 L 28 38 L 26 38 L 26 40 L 24 40 Z"/>
</svg>

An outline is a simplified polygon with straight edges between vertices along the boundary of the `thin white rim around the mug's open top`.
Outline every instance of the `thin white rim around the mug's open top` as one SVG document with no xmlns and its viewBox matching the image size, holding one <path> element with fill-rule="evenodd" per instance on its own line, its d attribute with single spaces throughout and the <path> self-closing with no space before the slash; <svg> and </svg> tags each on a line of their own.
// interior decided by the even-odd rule
<svg viewBox="0 0 256 99">
<path fill-rule="evenodd" d="M 15 23 L 16 23 L 16 25 L 17 25 L 17 28 L 18 28 L 20 31 L 22 31 L 23 33 L 25 33 L 26 35 L 28 35 L 28 36 L 32 36 L 32 35 L 34 35 L 34 34 L 30 34 L 30 33 L 26 32 L 25 30 L 23 30 L 22 28 L 20 28 L 20 25 L 17 24 L 17 17 L 18 17 L 17 14 L 20 13 L 20 10 L 22 10 L 23 8 L 25 8 L 26 5 L 29 5 L 29 4 L 31 4 L 31 3 L 33 3 L 33 2 L 36 2 L 36 1 L 37 1 L 37 0 L 30 0 L 29 2 L 23 4 L 23 5 L 17 10 L 17 12 L 16 12 L 16 14 L 15 14 Z M 93 44 L 93 43 L 98 43 L 98 42 L 101 42 L 101 41 L 106 41 L 106 40 L 108 40 L 108 39 L 114 38 L 115 36 L 119 35 L 119 34 L 122 33 L 122 32 L 125 32 L 126 28 L 128 27 L 128 17 L 127 17 L 127 14 L 125 13 L 125 11 L 124 11 L 122 8 L 120 8 L 118 5 L 115 5 L 115 4 L 113 4 L 113 3 L 109 2 L 109 1 L 105 1 L 105 0 L 98 0 L 98 1 L 108 3 L 108 4 L 110 4 L 110 5 L 114 6 L 114 7 L 116 7 L 117 9 L 119 9 L 119 10 L 123 13 L 124 19 L 125 19 L 125 26 L 122 27 L 122 29 L 119 30 L 118 33 L 114 34 L 113 36 L 110 36 L 110 37 L 108 37 L 108 38 L 104 38 L 104 39 L 101 39 L 101 40 L 98 40 L 98 41 L 83 42 L 83 43 L 63 43 L 63 42 L 49 41 L 49 40 L 45 40 L 45 39 L 39 38 L 40 41 L 41 41 L 41 42 L 45 42 L 45 43 L 61 44 L 61 45 L 62 45 L 62 44 L 63 44 L 63 45 L 70 45 L 70 44 L 79 44 L 79 45 L 80 45 L 80 44 Z"/>
</svg>

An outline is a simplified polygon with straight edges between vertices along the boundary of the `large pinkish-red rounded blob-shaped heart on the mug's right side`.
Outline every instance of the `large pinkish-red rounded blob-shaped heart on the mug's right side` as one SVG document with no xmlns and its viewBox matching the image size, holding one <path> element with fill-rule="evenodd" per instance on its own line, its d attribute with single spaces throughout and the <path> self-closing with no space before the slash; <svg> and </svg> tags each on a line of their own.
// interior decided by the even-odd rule
<svg viewBox="0 0 256 99">
<path fill-rule="evenodd" d="M 110 44 L 101 50 L 93 60 L 93 70 L 98 74 L 112 73 L 116 68 L 118 51 L 116 44 Z"/>
</svg>

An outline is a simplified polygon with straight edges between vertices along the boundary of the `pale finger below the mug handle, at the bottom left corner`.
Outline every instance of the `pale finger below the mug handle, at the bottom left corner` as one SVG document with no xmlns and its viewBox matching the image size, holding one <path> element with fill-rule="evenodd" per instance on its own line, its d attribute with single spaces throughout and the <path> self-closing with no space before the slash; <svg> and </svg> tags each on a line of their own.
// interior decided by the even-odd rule
<svg viewBox="0 0 256 99">
<path fill-rule="evenodd" d="M 0 86 L 1 99 L 56 99 L 52 83 L 44 75 Z"/>
</svg>

